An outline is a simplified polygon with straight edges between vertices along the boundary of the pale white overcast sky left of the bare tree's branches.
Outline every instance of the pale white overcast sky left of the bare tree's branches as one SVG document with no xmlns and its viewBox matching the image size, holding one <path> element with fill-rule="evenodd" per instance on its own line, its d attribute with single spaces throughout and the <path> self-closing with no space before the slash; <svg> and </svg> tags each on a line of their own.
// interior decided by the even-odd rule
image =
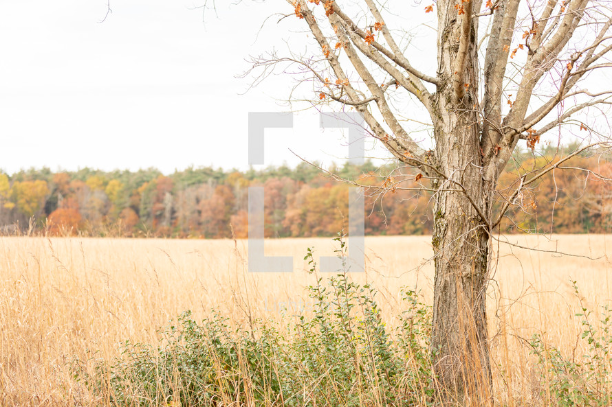
<svg viewBox="0 0 612 407">
<path fill-rule="evenodd" d="M 0 169 L 247 168 L 248 112 L 283 111 L 276 100 L 289 93 L 272 78 L 244 95 L 249 82 L 236 78 L 248 56 L 283 47 L 286 26 L 259 30 L 272 3 L 203 22 L 193 1 L 111 0 L 100 23 L 104 0 L 3 1 Z M 270 132 L 267 164 L 297 163 L 289 148 L 324 162 L 346 155 L 340 131 L 322 132 L 314 113 L 294 125 Z"/>
</svg>

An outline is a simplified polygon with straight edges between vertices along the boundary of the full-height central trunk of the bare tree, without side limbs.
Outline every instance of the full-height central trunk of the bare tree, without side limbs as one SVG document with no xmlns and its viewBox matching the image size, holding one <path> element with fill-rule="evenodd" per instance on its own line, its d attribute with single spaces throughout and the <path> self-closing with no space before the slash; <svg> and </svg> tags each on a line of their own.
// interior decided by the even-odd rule
<svg viewBox="0 0 612 407">
<path fill-rule="evenodd" d="M 478 27 L 472 19 L 480 4 L 437 3 L 432 355 L 438 401 L 445 406 L 492 404 L 485 295 L 495 181 L 485 181 L 480 148 Z"/>
</svg>

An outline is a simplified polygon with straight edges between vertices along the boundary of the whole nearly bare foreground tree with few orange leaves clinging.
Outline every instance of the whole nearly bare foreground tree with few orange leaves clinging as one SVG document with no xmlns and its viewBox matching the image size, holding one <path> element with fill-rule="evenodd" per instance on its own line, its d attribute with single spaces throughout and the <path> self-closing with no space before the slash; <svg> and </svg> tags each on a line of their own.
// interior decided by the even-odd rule
<svg viewBox="0 0 612 407">
<path fill-rule="evenodd" d="M 429 181 L 435 191 L 432 354 L 438 394 L 446 404 L 490 404 L 485 293 L 492 233 L 525 188 L 605 141 L 592 117 L 576 117 L 585 117 L 589 108 L 606 108 L 612 95 L 612 84 L 602 80 L 612 67 L 607 59 L 611 2 L 438 0 L 415 5 L 414 12 L 423 15 L 437 12 L 435 73 L 417 68 L 422 56 L 419 60 L 406 46 L 404 35 L 411 27 L 392 26 L 405 12 L 394 10 L 400 2 L 287 2 L 291 13 L 282 19 L 307 27 L 317 50 L 254 58 L 254 68 L 261 69 L 256 79 L 281 63 L 294 67 L 301 83 L 311 84 L 314 104 L 356 109 L 375 139 L 402 165 L 414 168 L 417 179 Z M 597 77 L 595 71 L 602 73 Z M 598 89 L 589 91 L 585 83 Z M 419 141 L 407 130 L 408 119 L 424 121 L 411 116 L 419 111 L 415 104 L 428 114 L 430 141 Z M 589 135 L 578 151 L 521 173 L 512 191 L 497 191 L 521 141 L 533 149 L 545 132 L 562 128 L 569 134 L 578 125 Z M 503 200 L 501 210 L 494 210 L 496 200 Z"/>
</svg>

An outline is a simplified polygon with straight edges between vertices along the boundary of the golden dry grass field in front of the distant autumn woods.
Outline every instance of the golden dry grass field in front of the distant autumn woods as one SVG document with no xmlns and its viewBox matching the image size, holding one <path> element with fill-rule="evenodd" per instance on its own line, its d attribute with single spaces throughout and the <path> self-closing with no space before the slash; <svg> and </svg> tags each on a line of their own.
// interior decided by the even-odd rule
<svg viewBox="0 0 612 407">
<path fill-rule="evenodd" d="M 525 340 L 539 333 L 564 353 L 583 353 L 582 345 L 576 349 L 581 327 L 574 316 L 580 299 L 570 279 L 597 321 L 600 305 L 612 299 L 606 256 L 612 237 L 506 239 L 540 249 L 495 242 L 499 261 L 488 294 L 496 397 L 505 403 L 512 393 L 528 402 L 536 395 Z M 246 246 L 241 240 L 0 237 L 0 405 L 91 404 L 71 375 L 73 358 L 112 358 L 127 339 L 154 344 L 157 329 L 184 310 L 199 320 L 216 309 L 235 323 L 308 312 L 312 303 L 303 288 L 315 277 L 305 271 L 306 248 L 333 255 L 334 242 L 266 242 L 267 255 L 294 256 L 294 272 L 283 275 L 249 273 Z M 389 325 L 401 311 L 400 287 L 416 287 L 431 301 L 429 237 L 369 237 L 366 251 L 367 272 L 351 278 L 378 288 Z"/>
</svg>

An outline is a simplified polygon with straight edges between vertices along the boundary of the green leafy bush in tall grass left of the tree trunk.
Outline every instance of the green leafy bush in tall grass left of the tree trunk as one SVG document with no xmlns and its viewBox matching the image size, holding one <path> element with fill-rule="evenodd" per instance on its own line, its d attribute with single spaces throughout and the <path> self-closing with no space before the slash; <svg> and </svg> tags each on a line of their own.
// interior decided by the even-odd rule
<svg viewBox="0 0 612 407">
<path fill-rule="evenodd" d="M 343 247 L 343 244 L 342 244 Z M 312 251 L 306 259 L 316 272 Z M 92 393 L 116 406 L 413 406 L 433 395 L 430 310 L 406 290 L 400 327 L 389 332 L 375 290 L 346 272 L 308 288 L 312 315 L 278 326 L 230 327 L 189 311 L 159 347 L 125 342 L 122 357 L 76 366 Z"/>
</svg>

